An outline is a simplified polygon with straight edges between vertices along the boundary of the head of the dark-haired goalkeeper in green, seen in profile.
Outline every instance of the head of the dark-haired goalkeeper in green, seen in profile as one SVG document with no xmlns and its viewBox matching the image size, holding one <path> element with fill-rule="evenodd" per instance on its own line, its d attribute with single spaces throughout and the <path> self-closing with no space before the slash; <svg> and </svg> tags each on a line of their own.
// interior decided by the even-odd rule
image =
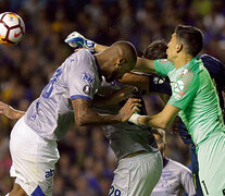
<svg viewBox="0 0 225 196">
<path fill-rule="evenodd" d="M 178 25 L 167 44 L 167 59 L 173 61 L 182 52 L 196 57 L 202 49 L 203 34 L 193 26 Z"/>
</svg>

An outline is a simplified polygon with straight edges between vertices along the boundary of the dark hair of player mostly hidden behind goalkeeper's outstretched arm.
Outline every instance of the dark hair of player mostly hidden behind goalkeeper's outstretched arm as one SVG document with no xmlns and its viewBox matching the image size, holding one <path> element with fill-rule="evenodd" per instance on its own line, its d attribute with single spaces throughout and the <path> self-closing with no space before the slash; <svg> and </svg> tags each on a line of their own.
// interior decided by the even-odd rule
<svg viewBox="0 0 225 196">
<path fill-rule="evenodd" d="M 143 58 L 154 59 L 167 59 L 166 54 L 167 45 L 165 40 L 160 39 L 151 42 L 143 51 Z"/>
</svg>

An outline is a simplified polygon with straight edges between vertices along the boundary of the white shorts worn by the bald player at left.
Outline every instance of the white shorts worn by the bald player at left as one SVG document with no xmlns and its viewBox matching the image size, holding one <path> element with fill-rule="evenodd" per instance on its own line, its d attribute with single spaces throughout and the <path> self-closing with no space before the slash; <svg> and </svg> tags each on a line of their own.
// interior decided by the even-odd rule
<svg viewBox="0 0 225 196">
<path fill-rule="evenodd" d="M 55 140 L 41 138 L 21 118 L 14 125 L 10 138 L 12 167 L 10 174 L 27 195 L 41 191 L 52 194 L 54 164 L 60 155 Z M 41 191 L 40 191 L 41 189 Z M 39 191 L 39 192 L 38 192 Z"/>
</svg>

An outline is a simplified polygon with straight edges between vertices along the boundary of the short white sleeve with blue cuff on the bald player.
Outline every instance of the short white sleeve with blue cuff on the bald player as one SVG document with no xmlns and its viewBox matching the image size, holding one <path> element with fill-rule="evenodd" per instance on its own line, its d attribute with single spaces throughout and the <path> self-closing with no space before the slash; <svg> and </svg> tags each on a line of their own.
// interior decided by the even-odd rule
<svg viewBox="0 0 225 196">
<path fill-rule="evenodd" d="M 98 72 L 95 69 L 95 61 L 90 53 L 80 52 L 77 61 L 71 59 L 67 69 L 67 84 L 71 100 L 86 99 L 91 101 L 98 85 Z"/>
</svg>

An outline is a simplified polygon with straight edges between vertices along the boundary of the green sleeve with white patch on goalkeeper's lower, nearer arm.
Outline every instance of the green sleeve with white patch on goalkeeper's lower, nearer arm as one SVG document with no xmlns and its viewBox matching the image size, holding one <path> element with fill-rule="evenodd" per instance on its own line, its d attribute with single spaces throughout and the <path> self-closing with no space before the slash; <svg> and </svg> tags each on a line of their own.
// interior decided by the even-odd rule
<svg viewBox="0 0 225 196">
<path fill-rule="evenodd" d="M 198 76 L 189 71 L 175 82 L 172 89 L 172 96 L 167 103 L 177 107 L 180 110 L 185 110 L 196 96 L 199 84 Z"/>
</svg>

